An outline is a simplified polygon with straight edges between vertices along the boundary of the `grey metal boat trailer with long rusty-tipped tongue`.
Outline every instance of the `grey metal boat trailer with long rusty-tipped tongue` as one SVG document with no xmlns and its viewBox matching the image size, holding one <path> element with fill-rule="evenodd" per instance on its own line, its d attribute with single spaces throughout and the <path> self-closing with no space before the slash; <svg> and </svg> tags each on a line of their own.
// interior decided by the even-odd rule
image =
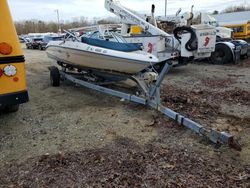
<svg viewBox="0 0 250 188">
<path fill-rule="evenodd" d="M 145 80 L 140 77 L 133 77 L 132 80 L 137 83 L 137 85 L 143 89 L 144 96 L 133 95 L 125 92 L 121 92 L 118 90 L 107 88 L 103 85 L 98 85 L 96 83 L 91 83 L 89 81 L 85 81 L 79 78 L 78 74 L 71 74 L 67 72 L 67 68 L 62 67 L 62 70 L 59 70 L 57 67 L 52 66 L 49 67 L 50 70 L 50 79 L 52 86 L 59 86 L 60 80 L 68 80 L 70 82 L 75 83 L 76 85 L 83 86 L 89 89 L 93 89 L 96 91 L 100 91 L 112 96 L 119 97 L 123 100 L 132 101 L 135 103 L 139 103 L 145 106 L 149 106 L 162 114 L 166 115 L 168 118 L 176 121 L 178 124 L 183 125 L 200 136 L 204 136 L 209 139 L 212 143 L 216 145 L 228 145 L 229 147 L 241 151 L 241 146 L 234 139 L 232 135 L 227 132 L 219 132 L 215 129 L 206 128 L 199 123 L 192 121 L 191 119 L 167 108 L 161 104 L 160 97 L 160 86 L 168 71 L 171 69 L 171 62 L 165 63 L 163 69 L 160 71 L 157 79 L 150 84 L 145 83 Z"/>
</svg>

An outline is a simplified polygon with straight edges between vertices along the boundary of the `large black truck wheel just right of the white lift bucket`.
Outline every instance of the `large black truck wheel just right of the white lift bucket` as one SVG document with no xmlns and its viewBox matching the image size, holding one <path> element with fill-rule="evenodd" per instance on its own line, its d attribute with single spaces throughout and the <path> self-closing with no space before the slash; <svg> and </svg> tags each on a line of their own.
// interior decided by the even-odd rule
<svg viewBox="0 0 250 188">
<path fill-rule="evenodd" d="M 216 44 L 215 51 L 211 54 L 211 61 L 214 64 L 226 64 L 233 60 L 232 51 L 224 44 Z"/>
</svg>

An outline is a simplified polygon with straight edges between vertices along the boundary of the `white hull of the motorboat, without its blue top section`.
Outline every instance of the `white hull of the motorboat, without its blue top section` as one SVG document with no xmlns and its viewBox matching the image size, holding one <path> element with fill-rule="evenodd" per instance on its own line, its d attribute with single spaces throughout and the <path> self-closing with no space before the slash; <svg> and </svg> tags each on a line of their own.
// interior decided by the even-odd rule
<svg viewBox="0 0 250 188">
<path fill-rule="evenodd" d="M 121 52 L 73 41 L 50 42 L 46 51 L 48 57 L 66 64 L 125 74 L 136 74 L 159 62 L 142 51 Z"/>
</svg>

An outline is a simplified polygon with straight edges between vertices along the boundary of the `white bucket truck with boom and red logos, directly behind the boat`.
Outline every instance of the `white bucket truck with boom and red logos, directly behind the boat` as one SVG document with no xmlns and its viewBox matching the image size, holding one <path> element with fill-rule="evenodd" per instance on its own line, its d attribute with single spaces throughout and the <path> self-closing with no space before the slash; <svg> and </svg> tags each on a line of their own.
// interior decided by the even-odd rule
<svg viewBox="0 0 250 188">
<path fill-rule="evenodd" d="M 156 26 L 154 7 L 150 19 L 122 6 L 118 0 L 105 0 L 105 8 L 117 15 L 122 22 L 121 34 L 128 42 L 143 44 L 143 50 L 160 60 L 176 60 L 174 66 L 186 64 L 195 58 L 210 57 L 215 50 L 216 30 L 209 25 L 179 27 L 170 35 Z M 133 27 L 142 31 L 134 32 Z"/>
</svg>

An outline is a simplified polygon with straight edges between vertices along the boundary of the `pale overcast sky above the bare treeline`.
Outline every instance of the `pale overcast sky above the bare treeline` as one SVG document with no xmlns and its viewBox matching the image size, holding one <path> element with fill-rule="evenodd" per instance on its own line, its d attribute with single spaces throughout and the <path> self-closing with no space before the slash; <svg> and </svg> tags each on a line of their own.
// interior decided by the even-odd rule
<svg viewBox="0 0 250 188">
<path fill-rule="evenodd" d="M 167 0 L 167 14 L 190 11 L 221 11 L 228 6 L 244 5 L 248 0 Z M 38 19 L 56 21 L 59 10 L 60 20 L 71 21 L 74 18 L 94 17 L 104 18 L 113 16 L 104 8 L 104 0 L 8 0 L 15 21 Z M 164 15 L 165 0 L 120 0 L 121 4 L 137 11 L 150 14 L 151 5 L 156 6 L 156 16 Z M 249 5 L 249 4 L 248 4 Z"/>
</svg>

